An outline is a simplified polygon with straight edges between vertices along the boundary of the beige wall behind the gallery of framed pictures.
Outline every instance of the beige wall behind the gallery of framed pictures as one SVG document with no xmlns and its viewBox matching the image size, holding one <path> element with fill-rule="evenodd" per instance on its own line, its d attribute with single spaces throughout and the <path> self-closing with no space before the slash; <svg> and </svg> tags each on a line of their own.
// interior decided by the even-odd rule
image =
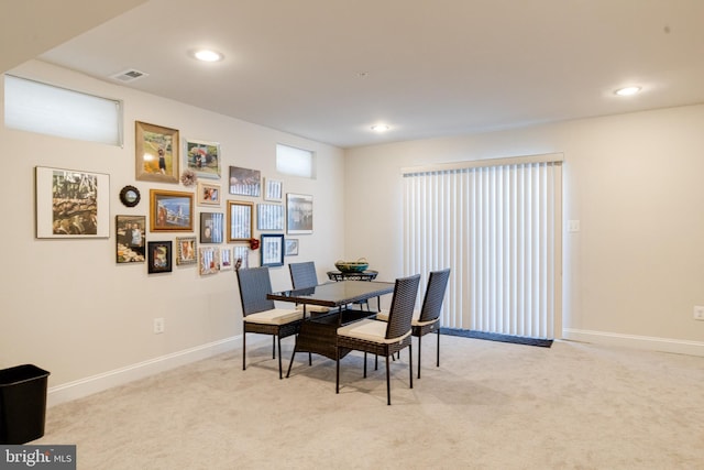
<svg viewBox="0 0 704 470">
<path fill-rule="evenodd" d="M 135 120 L 178 129 L 182 139 L 220 142 L 223 175 L 230 165 L 256 168 L 264 177 L 283 179 L 285 193 L 312 195 L 315 232 L 296 236 L 300 240 L 299 255 L 287 258 L 286 262 L 315 260 L 322 277 L 341 256 L 343 240 L 338 236 L 344 228 L 343 196 L 339 192 L 343 181 L 341 150 L 41 62 L 24 64 L 11 73 L 121 99 L 125 128 L 121 149 L 0 127 L 6 162 L 0 185 L 4 221 L 0 368 L 35 363 L 52 373 L 50 391 L 73 386 L 76 390 L 65 393 L 74 396 L 239 345 L 242 317 L 234 272 L 200 276 L 195 265 L 174 265 L 170 274 L 148 275 L 145 263 L 116 264 L 116 215 L 146 216 L 150 188 L 194 190 L 180 184 L 135 181 Z M 317 179 L 277 174 L 277 142 L 315 151 Z M 37 165 L 110 176 L 109 239 L 34 238 Z M 226 178 L 219 183 L 227 193 Z M 119 192 L 125 185 L 136 186 L 142 194 L 135 208 L 127 208 L 119 200 Z M 262 201 L 230 195 L 227 199 Z M 223 204 L 220 211 L 226 212 L 226 207 Z M 147 232 L 146 239 L 175 240 L 183 234 Z M 252 253 L 250 262 L 258 265 L 258 251 Z M 272 269 L 272 281 L 275 289 L 288 288 L 288 267 Z M 163 335 L 152 331 L 156 317 L 166 320 Z M 233 367 L 239 363 L 233 362 Z M 79 385 L 85 385 L 82 392 L 77 390 Z"/>
</svg>

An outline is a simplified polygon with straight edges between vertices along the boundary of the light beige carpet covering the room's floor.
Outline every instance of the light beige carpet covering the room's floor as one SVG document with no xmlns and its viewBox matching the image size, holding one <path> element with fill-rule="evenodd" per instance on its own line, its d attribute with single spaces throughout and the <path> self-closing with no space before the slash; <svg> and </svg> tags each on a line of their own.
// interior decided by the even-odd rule
<svg viewBox="0 0 704 470">
<path fill-rule="evenodd" d="M 336 395 L 333 361 L 278 380 L 249 338 L 246 371 L 238 350 L 51 407 L 32 444 L 86 470 L 704 468 L 704 358 L 443 336 L 438 369 L 432 337 L 413 390 L 408 352 L 392 363 L 387 406 L 383 362 L 344 358 Z"/>
</svg>

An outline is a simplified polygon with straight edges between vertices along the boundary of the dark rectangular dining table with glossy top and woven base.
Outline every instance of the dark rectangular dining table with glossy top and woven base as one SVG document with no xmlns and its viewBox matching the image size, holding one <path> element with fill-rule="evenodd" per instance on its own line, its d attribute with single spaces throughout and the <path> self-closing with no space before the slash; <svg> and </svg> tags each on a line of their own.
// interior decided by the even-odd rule
<svg viewBox="0 0 704 470">
<path fill-rule="evenodd" d="M 336 360 L 338 328 L 376 315 L 376 311 L 351 308 L 351 306 L 376 297 L 378 308 L 381 296 L 393 293 L 394 286 L 394 283 L 381 281 L 339 281 L 267 294 L 267 298 L 272 300 L 300 304 L 304 308 L 304 321 L 296 336 L 296 346 L 286 376 L 290 374 L 297 352 L 316 353 Z M 306 311 L 308 305 L 329 307 L 330 311 L 308 315 Z M 349 352 L 349 349 L 340 350 L 340 358 Z M 310 354 L 308 363 L 311 363 Z"/>
</svg>

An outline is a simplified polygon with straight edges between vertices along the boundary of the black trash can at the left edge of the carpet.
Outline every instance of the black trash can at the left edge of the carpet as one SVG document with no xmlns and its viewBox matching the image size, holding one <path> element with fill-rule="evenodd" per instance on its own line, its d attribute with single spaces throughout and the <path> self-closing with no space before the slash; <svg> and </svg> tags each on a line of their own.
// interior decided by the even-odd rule
<svg viewBox="0 0 704 470">
<path fill-rule="evenodd" d="M 0 370 L 0 444 L 44 436 L 48 374 L 33 364 Z"/>
</svg>

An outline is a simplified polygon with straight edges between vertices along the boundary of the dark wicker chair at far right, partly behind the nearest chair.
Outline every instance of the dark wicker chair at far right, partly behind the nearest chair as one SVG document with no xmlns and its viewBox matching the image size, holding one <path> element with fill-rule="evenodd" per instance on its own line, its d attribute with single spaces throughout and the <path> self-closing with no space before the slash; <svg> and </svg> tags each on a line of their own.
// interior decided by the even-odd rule
<svg viewBox="0 0 704 470">
<path fill-rule="evenodd" d="M 421 338 L 432 331 L 438 336 L 436 367 L 440 367 L 440 311 L 442 310 L 442 300 L 444 299 L 449 278 L 449 267 L 440 271 L 431 271 L 428 277 L 428 286 L 426 287 L 422 306 L 420 310 L 414 311 L 410 326 L 411 335 L 418 338 L 418 379 L 420 379 Z M 380 311 L 376 315 L 376 319 L 387 321 L 388 311 Z"/>
</svg>

